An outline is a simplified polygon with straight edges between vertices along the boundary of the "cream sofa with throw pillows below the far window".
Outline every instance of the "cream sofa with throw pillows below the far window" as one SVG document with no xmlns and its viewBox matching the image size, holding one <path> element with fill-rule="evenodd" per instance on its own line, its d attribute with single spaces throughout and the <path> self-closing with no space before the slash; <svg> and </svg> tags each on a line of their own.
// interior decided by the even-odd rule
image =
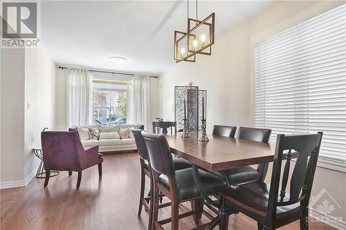
<svg viewBox="0 0 346 230">
<path fill-rule="evenodd" d="M 78 133 L 84 148 L 98 145 L 101 153 L 136 151 L 134 135 L 129 128 L 143 129 L 144 127 L 140 124 L 90 125 L 75 126 L 69 128 L 69 131 Z"/>
</svg>

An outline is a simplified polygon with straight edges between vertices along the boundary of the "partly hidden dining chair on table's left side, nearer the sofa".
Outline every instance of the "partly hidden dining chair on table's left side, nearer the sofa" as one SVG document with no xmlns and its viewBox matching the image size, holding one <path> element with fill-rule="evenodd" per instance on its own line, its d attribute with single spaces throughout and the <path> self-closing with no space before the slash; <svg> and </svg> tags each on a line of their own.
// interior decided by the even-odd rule
<svg viewBox="0 0 346 230">
<path fill-rule="evenodd" d="M 148 153 L 147 153 L 147 146 L 145 145 L 144 138 L 142 134 L 140 133 L 143 131 L 142 129 L 138 128 L 131 128 L 131 132 L 134 134 L 134 140 L 136 142 L 139 160 L 140 160 L 140 198 L 139 198 L 139 207 L 138 207 L 138 218 L 140 217 L 140 214 L 142 213 L 142 208 L 144 207 L 146 211 L 149 211 L 149 224 L 148 229 L 152 229 L 152 195 L 148 195 L 146 198 L 144 196 L 145 191 L 145 176 L 149 178 L 150 181 L 150 191 L 149 194 L 154 191 L 154 182 L 152 180 L 152 171 L 150 169 L 150 162 L 148 161 Z M 191 168 L 192 165 L 187 161 L 183 160 L 179 157 L 173 157 L 173 164 L 174 168 L 176 170 L 180 169 L 186 169 Z M 163 204 L 161 207 L 167 207 L 169 204 Z"/>
</svg>

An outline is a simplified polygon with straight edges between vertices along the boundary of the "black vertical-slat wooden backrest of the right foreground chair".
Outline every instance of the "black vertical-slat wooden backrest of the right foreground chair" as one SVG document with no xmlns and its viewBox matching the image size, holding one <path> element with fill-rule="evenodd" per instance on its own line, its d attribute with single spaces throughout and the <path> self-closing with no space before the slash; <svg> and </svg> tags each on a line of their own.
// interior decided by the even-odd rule
<svg viewBox="0 0 346 230">
<path fill-rule="evenodd" d="M 322 132 L 307 135 L 277 135 L 271 189 L 268 200 L 268 215 L 274 218 L 277 206 L 286 206 L 300 202 L 303 207 L 309 205 L 309 198 L 315 175 Z M 286 164 L 281 180 L 283 153 L 286 153 Z M 298 154 L 291 179 L 289 180 L 290 162 Z M 279 185 L 282 181 L 279 198 Z M 290 182 L 289 198 L 286 198 L 286 186 Z M 278 200 L 279 198 L 279 200 Z"/>
</svg>

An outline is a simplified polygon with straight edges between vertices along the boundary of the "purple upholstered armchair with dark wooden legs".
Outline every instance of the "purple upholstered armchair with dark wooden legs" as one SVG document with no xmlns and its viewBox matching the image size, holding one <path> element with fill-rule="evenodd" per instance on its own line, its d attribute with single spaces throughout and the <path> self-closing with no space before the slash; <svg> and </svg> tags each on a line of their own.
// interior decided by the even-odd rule
<svg viewBox="0 0 346 230">
<path fill-rule="evenodd" d="M 51 170 L 78 172 L 77 188 L 80 187 L 82 171 L 98 164 L 98 173 L 102 175 L 103 155 L 98 153 L 98 146 L 84 149 L 75 132 L 48 131 L 41 133 L 44 169 L 46 170 L 46 187 Z"/>
</svg>

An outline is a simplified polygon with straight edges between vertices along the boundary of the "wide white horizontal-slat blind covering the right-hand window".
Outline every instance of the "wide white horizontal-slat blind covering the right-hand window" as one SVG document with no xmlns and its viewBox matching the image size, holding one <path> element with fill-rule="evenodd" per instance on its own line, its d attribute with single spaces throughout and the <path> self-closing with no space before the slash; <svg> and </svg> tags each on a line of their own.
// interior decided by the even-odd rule
<svg viewBox="0 0 346 230">
<path fill-rule="evenodd" d="M 346 165 L 346 5 L 255 45 L 254 124 L 322 131 L 320 159 Z"/>
</svg>

